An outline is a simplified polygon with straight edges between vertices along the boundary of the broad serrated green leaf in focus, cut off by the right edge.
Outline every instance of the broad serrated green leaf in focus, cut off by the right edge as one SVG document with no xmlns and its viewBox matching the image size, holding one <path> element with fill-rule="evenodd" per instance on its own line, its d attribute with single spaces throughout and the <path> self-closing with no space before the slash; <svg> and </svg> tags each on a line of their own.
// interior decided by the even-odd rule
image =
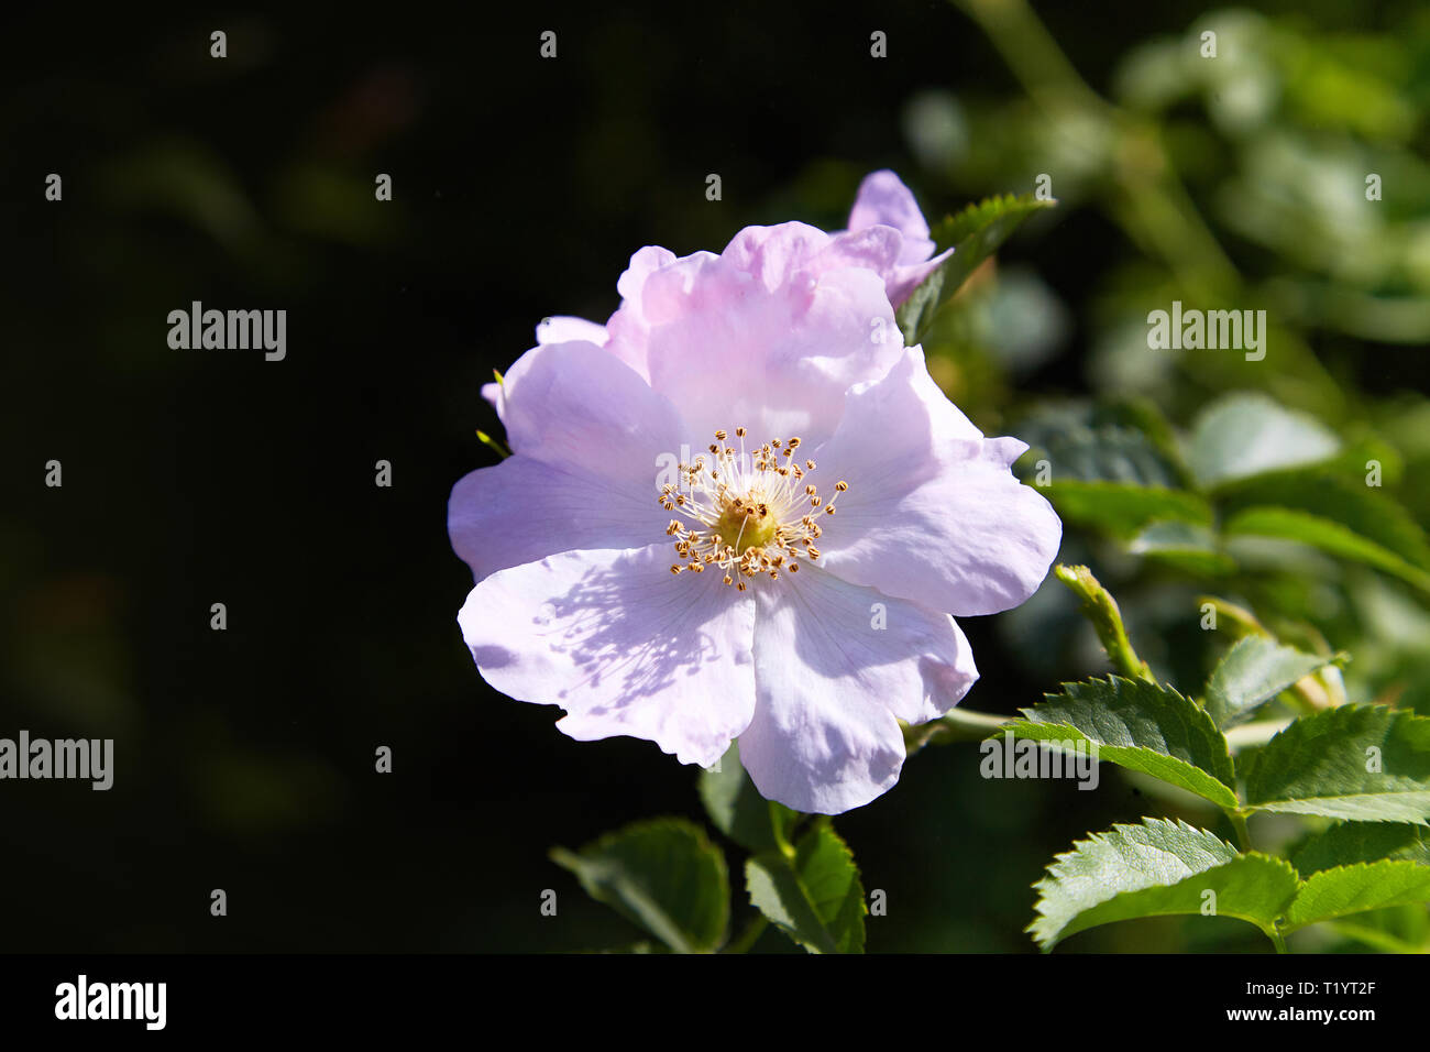
<svg viewBox="0 0 1430 1052">
<path fill-rule="evenodd" d="M 1253 810 L 1430 824 L 1430 717 L 1341 706 L 1294 720 L 1246 771 Z"/>
</svg>

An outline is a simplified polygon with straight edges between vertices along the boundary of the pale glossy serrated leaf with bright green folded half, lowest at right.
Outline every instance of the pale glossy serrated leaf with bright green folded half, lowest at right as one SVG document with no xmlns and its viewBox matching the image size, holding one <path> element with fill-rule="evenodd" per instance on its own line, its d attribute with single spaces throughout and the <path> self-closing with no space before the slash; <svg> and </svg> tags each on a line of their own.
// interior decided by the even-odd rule
<svg viewBox="0 0 1430 1052">
<path fill-rule="evenodd" d="M 1044 952 L 1070 935 L 1114 920 L 1201 913 L 1216 893 L 1218 916 L 1270 935 L 1297 889 L 1283 859 L 1236 847 L 1184 822 L 1143 819 L 1072 844 L 1034 886 L 1038 916 L 1028 932 Z"/>
</svg>

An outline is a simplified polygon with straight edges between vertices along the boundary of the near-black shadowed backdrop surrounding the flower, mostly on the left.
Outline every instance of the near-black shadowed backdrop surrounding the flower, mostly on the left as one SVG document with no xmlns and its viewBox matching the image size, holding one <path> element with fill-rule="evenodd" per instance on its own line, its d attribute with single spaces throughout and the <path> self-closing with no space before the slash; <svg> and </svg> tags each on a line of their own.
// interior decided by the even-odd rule
<svg viewBox="0 0 1430 1052">
<path fill-rule="evenodd" d="M 1200 10 L 1040 13 L 1101 89 L 1131 42 Z M 556 60 L 538 56 L 546 29 Z M 869 57 L 874 29 L 887 60 Z M 184 7 L 29 16 L 3 67 L 0 734 L 112 737 L 116 776 L 107 793 L 0 784 L 0 949 L 631 942 L 546 850 L 638 817 L 701 820 L 696 771 L 644 741 L 571 741 L 558 710 L 478 676 L 445 515 L 452 484 L 495 461 L 473 434 L 499 434 L 479 386 L 541 318 L 603 321 L 642 245 L 839 228 L 885 166 L 928 216 L 964 205 L 921 170 L 899 115 L 927 87 L 1012 92 L 987 40 L 942 3 Z M 43 198 L 50 172 L 61 203 Z M 373 200 L 379 172 L 390 203 Z M 1120 236 L 1080 210 L 1002 255 L 1035 255 L 1080 305 Z M 286 361 L 170 349 L 166 316 L 194 299 L 285 308 Z M 1075 316 L 1021 384 L 1083 389 L 1085 351 Z M 220 601 L 229 627 L 210 631 Z M 1050 681 L 991 621 L 964 621 L 982 671 L 968 704 L 1011 711 Z M 392 774 L 375 773 L 378 746 Z M 888 893 L 869 948 L 1031 950 L 1030 885 L 1051 853 L 1144 810 L 1111 773 L 1097 793 L 985 783 L 971 747 L 930 750 L 838 820 L 865 886 Z M 209 913 L 216 887 L 227 917 Z M 548 887 L 555 919 L 538 910 Z M 1075 945 L 1155 948 L 1161 932 Z"/>
</svg>

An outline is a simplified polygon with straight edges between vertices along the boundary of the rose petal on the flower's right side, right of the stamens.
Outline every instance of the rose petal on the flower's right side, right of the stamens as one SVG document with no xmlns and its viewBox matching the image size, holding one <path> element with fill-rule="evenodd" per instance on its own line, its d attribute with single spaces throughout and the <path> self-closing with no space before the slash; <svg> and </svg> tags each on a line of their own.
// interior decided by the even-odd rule
<svg viewBox="0 0 1430 1052">
<path fill-rule="evenodd" d="M 839 431 L 815 452 L 821 491 L 849 484 L 821 521 L 822 565 L 955 617 L 1018 605 L 1062 540 L 1052 507 L 1008 471 L 1024 449 L 978 437 L 922 348 L 909 348 L 882 381 L 849 392 Z"/>
</svg>

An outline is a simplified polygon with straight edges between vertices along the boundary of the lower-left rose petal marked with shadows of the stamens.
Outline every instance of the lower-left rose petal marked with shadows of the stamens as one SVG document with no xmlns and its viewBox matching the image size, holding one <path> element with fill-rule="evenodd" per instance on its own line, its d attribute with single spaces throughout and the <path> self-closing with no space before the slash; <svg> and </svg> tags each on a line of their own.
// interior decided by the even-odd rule
<svg viewBox="0 0 1430 1052">
<path fill-rule="evenodd" d="M 709 766 L 755 703 L 749 593 L 714 573 L 674 575 L 671 545 L 581 551 L 502 570 L 458 621 L 482 677 L 556 704 L 581 741 L 628 734 Z"/>
</svg>

